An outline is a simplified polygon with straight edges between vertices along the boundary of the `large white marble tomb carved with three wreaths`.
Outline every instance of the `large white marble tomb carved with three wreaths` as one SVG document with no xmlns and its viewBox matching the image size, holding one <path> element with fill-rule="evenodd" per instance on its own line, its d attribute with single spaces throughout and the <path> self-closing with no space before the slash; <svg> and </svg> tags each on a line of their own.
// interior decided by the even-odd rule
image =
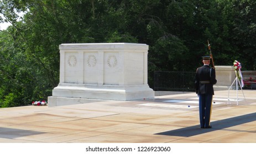
<svg viewBox="0 0 256 154">
<path fill-rule="evenodd" d="M 148 45 L 77 43 L 59 49 L 60 83 L 48 97 L 49 106 L 82 103 L 85 98 L 154 98 L 148 86 Z"/>
</svg>

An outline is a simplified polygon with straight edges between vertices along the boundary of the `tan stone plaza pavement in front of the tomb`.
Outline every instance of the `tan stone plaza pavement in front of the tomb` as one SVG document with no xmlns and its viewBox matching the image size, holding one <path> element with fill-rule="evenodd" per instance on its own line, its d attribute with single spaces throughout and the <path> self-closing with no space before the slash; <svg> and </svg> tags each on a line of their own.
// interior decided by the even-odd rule
<svg viewBox="0 0 256 154">
<path fill-rule="evenodd" d="M 159 94 L 160 92 L 156 92 Z M 243 97 L 246 98 L 246 100 Z M 256 91 L 215 91 L 211 129 L 201 129 L 194 92 L 151 100 L 0 109 L 1 143 L 255 143 Z"/>
</svg>

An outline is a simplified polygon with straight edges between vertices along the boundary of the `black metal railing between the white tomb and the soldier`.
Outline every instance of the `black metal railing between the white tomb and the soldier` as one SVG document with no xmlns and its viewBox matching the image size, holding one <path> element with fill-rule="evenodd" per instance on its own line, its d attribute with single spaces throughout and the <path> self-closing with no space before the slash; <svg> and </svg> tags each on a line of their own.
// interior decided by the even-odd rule
<svg viewBox="0 0 256 154">
<path fill-rule="evenodd" d="M 154 91 L 195 91 L 195 72 L 154 72 Z"/>
</svg>

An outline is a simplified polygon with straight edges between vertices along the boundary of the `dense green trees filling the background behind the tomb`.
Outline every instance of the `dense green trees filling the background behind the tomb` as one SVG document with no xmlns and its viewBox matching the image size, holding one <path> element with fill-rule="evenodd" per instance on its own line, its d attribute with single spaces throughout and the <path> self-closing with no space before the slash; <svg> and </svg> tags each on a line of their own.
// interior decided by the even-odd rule
<svg viewBox="0 0 256 154">
<path fill-rule="evenodd" d="M 0 21 L 12 26 L 0 31 L 0 107 L 51 96 L 61 43 L 146 43 L 150 86 L 155 70 L 194 71 L 207 40 L 215 65 L 255 70 L 255 9 L 254 0 L 1 0 Z"/>
</svg>

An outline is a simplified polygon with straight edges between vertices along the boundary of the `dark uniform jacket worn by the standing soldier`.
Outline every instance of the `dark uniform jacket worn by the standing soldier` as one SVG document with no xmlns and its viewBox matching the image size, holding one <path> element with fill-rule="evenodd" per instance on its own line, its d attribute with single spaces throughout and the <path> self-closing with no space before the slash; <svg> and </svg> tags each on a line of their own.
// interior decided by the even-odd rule
<svg viewBox="0 0 256 154">
<path fill-rule="evenodd" d="M 215 69 L 209 65 L 203 65 L 197 68 L 195 79 L 196 94 L 214 95 L 213 85 L 216 83 Z"/>
</svg>

